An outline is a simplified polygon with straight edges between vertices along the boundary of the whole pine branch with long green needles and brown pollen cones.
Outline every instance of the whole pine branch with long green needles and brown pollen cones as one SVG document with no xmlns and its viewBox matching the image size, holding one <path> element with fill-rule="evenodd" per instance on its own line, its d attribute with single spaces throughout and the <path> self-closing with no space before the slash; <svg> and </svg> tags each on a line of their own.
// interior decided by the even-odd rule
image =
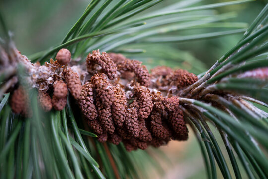
<svg viewBox="0 0 268 179">
<path fill-rule="evenodd" d="M 144 178 L 142 166 L 160 170 L 151 148 L 187 140 L 188 129 L 207 178 L 220 172 L 241 179 L 242 171 L 268 178 L 268 5 L 247 29 L 177 36 L 214 23 L 226 27 L 221 21 L 233 14 L 208 9 L 252 0 L 194 7 L 198 0 L 187 0 L 150 11 L 162 1 L 91 0 L 60 44 L 28 57 L 0 14 L 0 178 Z M 241 32 L 200 75 L 149 69 L 123 55 L 144 52 L 124 48 L 133 43 L 165 46 Z"/>
</svg>

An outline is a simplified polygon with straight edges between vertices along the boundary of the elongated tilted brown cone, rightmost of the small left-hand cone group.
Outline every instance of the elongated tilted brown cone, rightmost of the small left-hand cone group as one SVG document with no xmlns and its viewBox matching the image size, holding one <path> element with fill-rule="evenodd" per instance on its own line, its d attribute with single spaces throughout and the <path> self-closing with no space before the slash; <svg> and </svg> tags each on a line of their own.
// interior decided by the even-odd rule
<svg viewBox="0 0 268 179">
<path fill-rule="evenodd" d="M 82 89 L 82 84 L 78 74 L 73 72 L 70 68 L 65 70 L 63 73 L 71 95 L 74 97 L 74 99 L 78 100 Z"/>
</svg>

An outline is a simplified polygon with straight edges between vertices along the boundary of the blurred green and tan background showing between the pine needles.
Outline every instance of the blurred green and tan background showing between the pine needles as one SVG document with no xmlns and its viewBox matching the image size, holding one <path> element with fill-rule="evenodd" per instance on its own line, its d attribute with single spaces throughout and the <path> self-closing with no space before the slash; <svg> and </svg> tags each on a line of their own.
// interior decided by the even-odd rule
<svg viewBox="0 0 268 179">
<path fill-rule="evenodd" d="M 166 0 L 158 8 L 169 5 L 174 1 L 176 0 Z M 228 0 L 203 0 L 199 5 L 225 1 Z M 267 2 L 268 0 L 256 0 L 250 3 L 218 8 L 217 10 L 221 13 L 233 11 L 237 14 L 236 18 L 228 19 L 228 21 L 250 24 Z M 59 44 L 71 26 L 83 13 L 88 3 L 89 0 L 0 0 L 0 10 L 7 21 L 9 30 L 13 33 L 13 39 L 18 50 L 28 56 L 48 49 L 52 45 Z M 213 32 L 213 30 L 215 29 L 203 29 L 200 33 Z M 172 45 L 155 44 L 155 49 L 151 50 L 157 51 L 157 49 L 172 48 L 176 49 L 177 53 L 175 55 L 178 59 L 199 59 L 202 64 L 199 64 L 196 68 L 193 68 L 196 64 L 185 63 L 183 66 L 198 74 L 209 68 L 217 59 L 233 47 L 241 36 L 242 34 L 236 34 Z M 140 58 L 144 63 L 148 64 L 154 60 L 153 57 L 146 56 L 146 53 L 142 55 L 127 55 L 130 58 Z M 174 54 L 170 55 L 174 56 Z M 159 58 L 161 58 L 161 54 Z M 213 130 L 216 132 L 215 128 Z M 188 141 L 170 142 L 167 146 L 160 149 L 163 153 L 154 152 L 154 155 L 156 158 L 161 158 L 159 161 L 165 173 L 162 176 L 154 175 L 153 169 L 150 169 L 152 170 L 152 178 L 206 178 L 202 155 L 192 133 L 190 133 Z M 153 150 L 149 149 L 148 152 Z M 226 150 L 223 149 L 223 152 L 226 153 Z M 163 160 L 163 154 L 166 160 Z M 245 174 L 243 168 L 241 170 L 241 174 Z M 218 174 L 218 177 L 222 178 L 220 171 Z"/>
</svg>

